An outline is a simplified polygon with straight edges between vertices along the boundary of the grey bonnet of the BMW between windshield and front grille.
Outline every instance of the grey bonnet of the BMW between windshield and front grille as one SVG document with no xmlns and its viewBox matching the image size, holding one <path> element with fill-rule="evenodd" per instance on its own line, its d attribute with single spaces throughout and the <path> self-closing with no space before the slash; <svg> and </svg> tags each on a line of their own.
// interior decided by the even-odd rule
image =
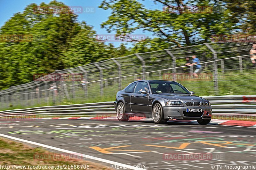
<svg viewBox="0 0 256 170">
<path fill-rule="evenodd" d="M 193 95 L 193 94 L 182 94 L 182 93 L 160 93 L 160 94 L 154 94 L 154 95 L 158 96 L 158 97 L 163 97 L 169 101 L 182 100 L 182 101 L 200 101 L 200 102 L 202 102 L 202 100 L 204 99 L 204 98 L 201 98 L 201 97 Z M 193 99 L 193 100 L 191 100 L 191 99 Z"/>
</svg>

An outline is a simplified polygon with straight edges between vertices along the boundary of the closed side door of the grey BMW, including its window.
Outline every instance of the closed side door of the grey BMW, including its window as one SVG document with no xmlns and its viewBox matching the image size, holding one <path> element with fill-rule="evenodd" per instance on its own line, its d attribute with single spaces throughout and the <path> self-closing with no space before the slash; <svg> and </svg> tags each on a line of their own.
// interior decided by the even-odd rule
<svg viewBox="0 0 256 170">
<path fill-rule="evenodd" d="M 142 94 L 140 90 L 145 90 L 144 87 L 148 89 L 148 83 L 138 82 L 134 93 L 131 96 L 131 109 L 135 113 L 148 113 L 148 94 Z"/>
</svg>

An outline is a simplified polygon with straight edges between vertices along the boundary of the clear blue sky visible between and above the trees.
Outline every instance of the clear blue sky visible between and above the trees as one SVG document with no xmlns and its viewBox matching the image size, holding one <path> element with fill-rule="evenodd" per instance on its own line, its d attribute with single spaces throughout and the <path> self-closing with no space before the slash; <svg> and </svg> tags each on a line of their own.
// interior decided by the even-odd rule
<svg viewBox="0 0 256 170">
<path fill-rule="evenodd" d="M 82 7 L 83 13 L 78 13 L 78 21 L 86 21 L 88 25 L 94 27 L 97 34 L 108 34 L 105 28 L 100 28 L 100 24 L 108 19 L 110 15 L 110 10 L 103 10 L 98 8 L 102 0 L 59 0 L 64 2 L 68 6 Z M 14 13 L 22 12 L 28 4 L 35 3 L 40 5 L 41 2 L 49 3 L 50 0 L 0 0 L 0 26 L 13 16 Z M 140 1 L 147 8 L 151 9 L 161 9 L 160 4 L 154 4 L 152 1 Z M 86 12 L 87 10 L 87 12 Z M 89 11 L 89 12 L 88 12 Z M 146 36 L 151 36 L 151 33 L 142 33 L 141 31 L 135 32 L 136 34 L 146 34 Z M 114 33 L 110 33 L 114 34 Z M 106 42 L 107 44 L 109 42 Z M 115 46 L 119 46 L 121 43 L 126 43 L 127 46 L 131 46 L 131 43 L 127 42 L 111 42 Z"/>
</svg>

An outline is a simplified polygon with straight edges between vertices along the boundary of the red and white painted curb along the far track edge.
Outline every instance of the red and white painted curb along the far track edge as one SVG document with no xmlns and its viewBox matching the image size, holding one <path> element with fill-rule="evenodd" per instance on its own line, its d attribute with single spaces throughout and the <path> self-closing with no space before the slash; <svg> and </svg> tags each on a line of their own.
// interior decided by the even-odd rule
<svg viewBox="0 0 256 170">
<path fill-rule="evenodd" d="M 13 118 L 13 119 L 78 119 L 78 120 L 118 120 L 116 116 L 86 116 L 86 117 L 44 117 L 44 118 Z M 152 121 L 152 118 L 145 117 L 130 117 L 129 121 Z M 188 122 L 188 123 L 197 123 L 196 121 L 182 121 L 182 120 L 169 120 L 169 122 Z M 221 120 L 221 119 L 212 119 L 211 123 L 217 123 L 219 125 L 227 126 L 243 126 L 243 127 L 253 127 L 256 128 L 256 122 L 252 121 L 237 121 L 237 120 Z"/>
</svg>

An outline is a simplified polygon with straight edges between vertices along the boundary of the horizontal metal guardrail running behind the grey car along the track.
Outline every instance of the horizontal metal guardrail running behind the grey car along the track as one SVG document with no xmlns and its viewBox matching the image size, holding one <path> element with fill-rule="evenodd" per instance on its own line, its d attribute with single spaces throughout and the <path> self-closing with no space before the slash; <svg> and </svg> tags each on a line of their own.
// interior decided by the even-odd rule
<svg viewBox="0 0 256 170">
<path fill-rule="evenodd" d="M 203 96 L 210 100 L 213 115 L 256 116 L 256 95 Z M 116 114 L 113 101 L 75 105 L 33 107 L 0 111 L 0 117 L 21 115 L 109 115 Z"/>
</svg>

